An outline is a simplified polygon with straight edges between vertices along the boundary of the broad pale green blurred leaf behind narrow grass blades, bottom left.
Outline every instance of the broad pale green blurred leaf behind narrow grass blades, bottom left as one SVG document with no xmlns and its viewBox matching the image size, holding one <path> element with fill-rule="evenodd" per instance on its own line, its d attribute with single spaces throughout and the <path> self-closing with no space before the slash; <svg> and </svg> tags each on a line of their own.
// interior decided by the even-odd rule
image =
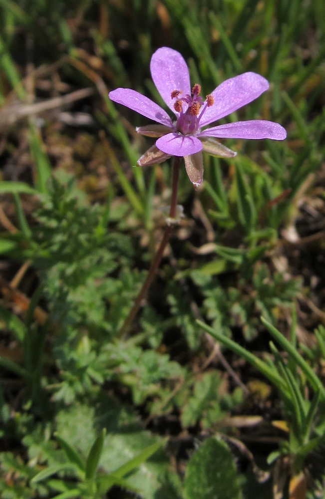
<svg viewBox="0 0 325 499">
<path fill-rule="evenodd" d="M 98 417 L 101 425 L 107 429 L 99 465 L 105 473 L 113 474 L 116 468 L 136 458 L 157 439 L 142 429 L 133 413 L 116 406 L 107 395 L 101 395 L 100 400 L 101 405 L 96 415 L 93 407 L 85 405 L 60 411 L 56 418 L 56 428 L 66 442 L 80 450 L 83 455 L 87 455 L 95 438 L 94 421 L 95 417 Z M 159 477 L 164 476 L 167 469 L 168 461 L 164 453 L 157 452 L 150 461 L 135 469 L 124 481 L 130 490 L 137 490 L 142 498 L 152 499 L 161 487 Z M 101 476 L 97 475 L 96 480 L 101 480 Z"/>
</svg>

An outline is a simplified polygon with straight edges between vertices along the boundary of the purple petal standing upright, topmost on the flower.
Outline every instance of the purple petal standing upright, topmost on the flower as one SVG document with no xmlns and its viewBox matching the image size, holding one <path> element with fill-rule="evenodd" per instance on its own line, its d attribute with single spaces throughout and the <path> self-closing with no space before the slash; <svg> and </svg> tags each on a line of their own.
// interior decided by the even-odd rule
<svg viewBox="0 0 325 499">
<path fill-rule="evenodd" d="M 158 92 L 175 113 L 172 91 L 181 90 L 183 95 L 191 94 L 190 75 L 185 60 L 176 50 L 161 47 L 151 57 L 150 71 Z"/>
</svg>

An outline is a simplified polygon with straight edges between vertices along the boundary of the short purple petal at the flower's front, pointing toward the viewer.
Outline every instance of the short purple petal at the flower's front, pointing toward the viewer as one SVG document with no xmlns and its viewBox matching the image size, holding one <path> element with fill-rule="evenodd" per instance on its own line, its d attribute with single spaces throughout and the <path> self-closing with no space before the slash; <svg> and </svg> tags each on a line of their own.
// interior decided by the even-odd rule
<svg viewBox="0 0 325 499">
<path fill-rule="evenodd" d="M 202 150 L 199 139 L 192 135 L 181 135 L 180 133 L 168 133 L 156 141 L 158 149 L 170 156 L 188 156 Z"/>
</svg>

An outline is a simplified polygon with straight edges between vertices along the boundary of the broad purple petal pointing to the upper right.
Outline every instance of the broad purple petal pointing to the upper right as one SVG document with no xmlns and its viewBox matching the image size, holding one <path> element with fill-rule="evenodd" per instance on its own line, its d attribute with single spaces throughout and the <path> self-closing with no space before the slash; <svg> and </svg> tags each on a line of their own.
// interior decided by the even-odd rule
<svg viewBox="0 0 325 499">
<path fill-rule="evenodd" d="M 250 71 L 223 81 L 212 92 L 214 104 L 204 111 L 200 126 L 209 125 L 209 123 L 237 111 L 240 107 L 257 99 L 268 88 L 268 80 Z"/>
</svg>

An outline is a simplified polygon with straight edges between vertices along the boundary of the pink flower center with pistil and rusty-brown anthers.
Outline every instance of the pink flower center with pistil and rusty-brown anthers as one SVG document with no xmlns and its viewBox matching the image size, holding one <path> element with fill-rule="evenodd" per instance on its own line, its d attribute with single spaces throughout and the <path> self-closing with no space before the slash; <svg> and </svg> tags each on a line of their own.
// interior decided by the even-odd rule
<svg viewBox="0 0 325 499">
<path fill-rule="evenodd" d="M 199 97 L 201 93 L 201 85 L 196 83 L 192 88 L 191 95 L 186 94 L 182 97 L 181 90 L 173 90 L 171 93 L 171 98 L 176 99 L 174 103 L 174 109 L 177 113 L 180 113 L 175 124 L 176 130 L 181 132 L 183 135 L 195 134 L 199 128 L 200 119 L 207 107 L 214 104 L 214 98 L 211 94 L 206 96 L 206 103 L 200 112 L 200 108 L 203 104 L 202 97 Z M 185 107 L 185 111 L 183 107 Z"/>
</svg>

